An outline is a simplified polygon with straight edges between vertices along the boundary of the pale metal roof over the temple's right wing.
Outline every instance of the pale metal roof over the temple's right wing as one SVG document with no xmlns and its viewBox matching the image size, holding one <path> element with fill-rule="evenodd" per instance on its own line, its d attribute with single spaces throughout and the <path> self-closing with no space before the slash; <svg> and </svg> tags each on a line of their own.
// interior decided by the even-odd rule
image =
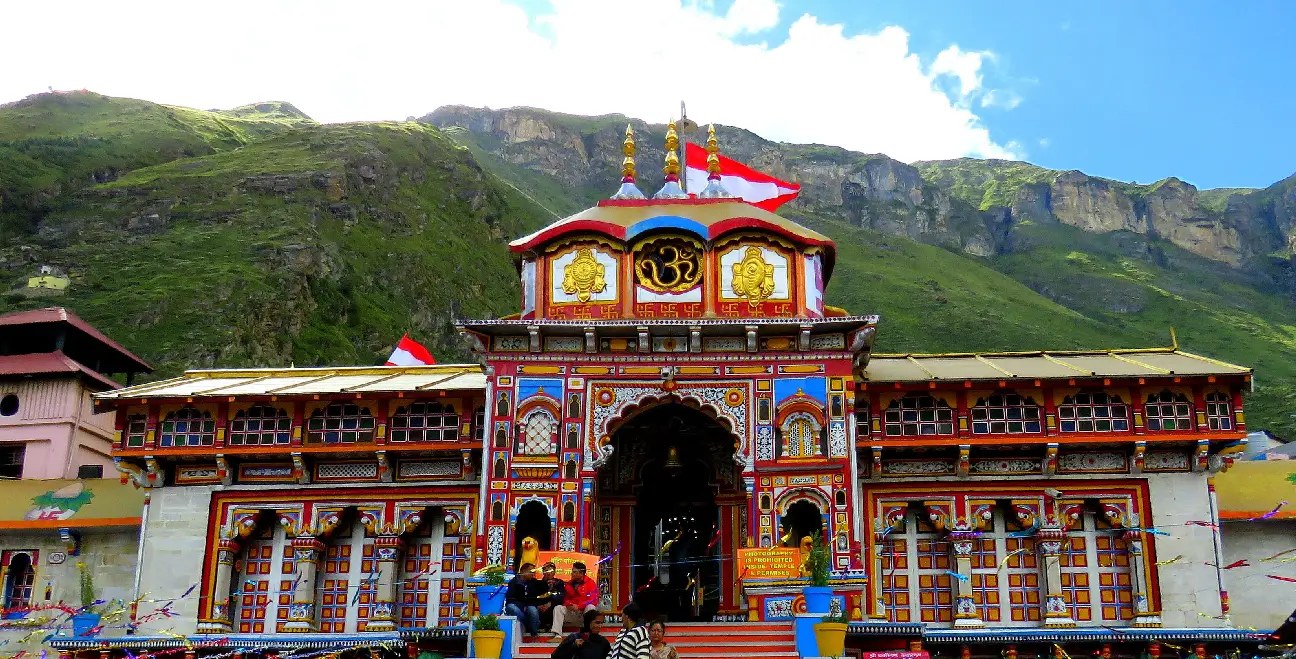
<svg viewBox="0 0 1296 659">
<path fill-rule="evenodd" d="M 871 383 L 1245 375 L 1251 368 L 1169 348 L 1105 352 L 875 354 Z"/>
</svg>

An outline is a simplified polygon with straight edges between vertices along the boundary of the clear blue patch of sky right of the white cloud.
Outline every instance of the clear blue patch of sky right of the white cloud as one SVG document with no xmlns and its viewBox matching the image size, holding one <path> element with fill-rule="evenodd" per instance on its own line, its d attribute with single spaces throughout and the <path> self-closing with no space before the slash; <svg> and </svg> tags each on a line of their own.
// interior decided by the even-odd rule
<svg viewBox="0 0 1296 659">
<path fill-rule="evenodd" d="M 988 84 L 1021 102 L 977 114 L 1045 167 L 1200 188 L 1296 173 L 1296 3 L 805 0 L 771 32 L 802 13 L 898 25 L 924 60 L 951 43 L 993 52 Z"/>
</svg>

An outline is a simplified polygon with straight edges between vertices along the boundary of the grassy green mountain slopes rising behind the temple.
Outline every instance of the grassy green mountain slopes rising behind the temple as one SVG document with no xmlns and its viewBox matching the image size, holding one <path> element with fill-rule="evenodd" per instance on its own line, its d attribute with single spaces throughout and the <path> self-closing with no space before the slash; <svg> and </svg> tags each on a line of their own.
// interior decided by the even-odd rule
<svg viewBox="0 0 1296 659">
<path fill-rule="evenodd" d="M 0 153 L 17 154 L 0 158 L 10 282 L 0 310 L 66 305 L 158 375 L 378 363 L 406 331 L 443 359 L 464 358 L 452 320 L 517 310 L 507 241 L 616 187 L 623 122 L 565 121 L 572 132 L 555 148 L 470 125 L 321 126 L 279 102 L 203 112 L 35 96 L 0 108 Z M 972 231 L 986 209 L 1019 198 L 1010 189 L 1058 173 L 994 165 L 1006 169 L 949 174 L 955 186 L 938 165 L 919 178 L 884 156 L 783 153 L 736 130 L 731 141 L 752 161 L 840 174 L 842 192 L 807 188 L 785 214 L 837 240 L 828 301 L 880 314 L 877 350 L 1165 345 L 1174 326 L 1186 349 L 1256 366 L 1253 427 L 1292 432 L 1296 314 L 1280 272 L 1029 218 L 971 256 L 966 243 L 906 236 L 925 240 L 919 228 L 937 213 L 943 235 Z M 642 176 L 644 189 L 652 179 Z M 991 179 L 1002 192 L 988 192 Z M 1256 192 L 1226 205 L 1239 197 L 1274 202 Z M 70 276 L 66 294 L 25 288 L 45 265 Z"/>
</svg>

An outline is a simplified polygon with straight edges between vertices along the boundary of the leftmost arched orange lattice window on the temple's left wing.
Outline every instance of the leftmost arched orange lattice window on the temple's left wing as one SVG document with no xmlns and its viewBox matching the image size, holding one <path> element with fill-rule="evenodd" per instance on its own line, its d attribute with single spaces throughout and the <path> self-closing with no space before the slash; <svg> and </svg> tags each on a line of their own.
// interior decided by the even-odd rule
<svg viewBox="0 0 1296 659">
<path fill-rule="evenodd" d="M 293 589 L 293 547 L 279 524 L 264 524 L 242 542 L 233 586 L 235 630 L 241 634 L 275 632 L 288 620 Z M 280 606 L 283 602 L 284 606 Z"/>
</svg>

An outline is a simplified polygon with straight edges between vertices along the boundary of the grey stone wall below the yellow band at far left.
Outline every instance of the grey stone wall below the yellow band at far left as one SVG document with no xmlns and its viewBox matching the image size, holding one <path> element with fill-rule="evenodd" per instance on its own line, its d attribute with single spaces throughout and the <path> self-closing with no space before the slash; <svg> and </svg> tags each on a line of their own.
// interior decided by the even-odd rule
<svg viewBox="0 0 1296 659">
<path fill-rule="evenodd" d="M 80 572 L 76 563 L 84 563 L 95 577 L 95 597 L 109 601 L 106 611 L 121 608 L 122 603 L 133 599 L 135 557 L 139 549 L 139 529 L 135 527 L 83 529 L 79 557 L 67 555 L 61 564 L 51 564 L 49 555 L 56 551 L 67 553 L 67 544 L 58 538 L 57 529 L 0 531 L 0 549 L 39 551 L 36 579 L 32 584 L 31 606 L 41 607 L 64 602 L 73 608 L 80 607 Z M 119 602 L 113 602 L 119 601 Z M 141 605 L 144 606 L 144 605 Z M 45 624 L 14 630 L 0 630 L 0 643 L 4 655 L 18 651 L 40 654 L 41 640 L 54 633 L 67 616 L 57 610 L 32 611 L 29 620 L 49 619 Z M 100 636 L 115 637 L 126 633 L 127 616 L 110 616 L 104 623 Z M 38 632 L 40 630 L 40 632 Z M 34 633 L 36 632 L 36 633 Z M 71 624 L 64 624 L 61 634 L 71 636 Z M 23 641 L 26 638 L 26 641 Z"/>
</svg>

